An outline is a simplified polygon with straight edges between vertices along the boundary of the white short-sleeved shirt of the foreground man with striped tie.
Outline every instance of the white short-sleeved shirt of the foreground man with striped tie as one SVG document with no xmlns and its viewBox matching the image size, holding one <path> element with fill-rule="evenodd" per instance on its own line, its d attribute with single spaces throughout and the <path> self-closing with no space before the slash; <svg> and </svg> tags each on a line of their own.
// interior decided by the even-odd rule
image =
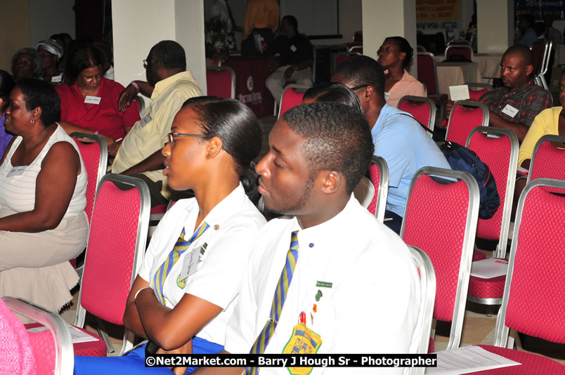
<svg viewBox="0 0 565 375">
<path fill-rule="evenodd" d="M 292 231 L 299 230 L 298 261 L 283 312 L 265 353 L 283 353 L 301 312 L 321 336 L 318 353 L 415 353 L 420 303 L 417 269 L 402 239 L 351 197 L 337 216 L 301 230 L 296 218 L 267 223 L 251 256 L 249 276 L 226 330 L 229 353 L 249 353 L 271 312 Z M 320 284 L 331 287 L 320 287 Z M 322 293 L 316 301 L 318 291 Z M 316 312 L 313 305 L 316 303 Z M 401 374 L 403 369 L 385 369 Z M 348 374 L 380 369 L 348 368 Z M 343 373 L 314 367 L 312 374 Z M 261 374 L 288 374 L 265 367 Z"/>
</svg>

